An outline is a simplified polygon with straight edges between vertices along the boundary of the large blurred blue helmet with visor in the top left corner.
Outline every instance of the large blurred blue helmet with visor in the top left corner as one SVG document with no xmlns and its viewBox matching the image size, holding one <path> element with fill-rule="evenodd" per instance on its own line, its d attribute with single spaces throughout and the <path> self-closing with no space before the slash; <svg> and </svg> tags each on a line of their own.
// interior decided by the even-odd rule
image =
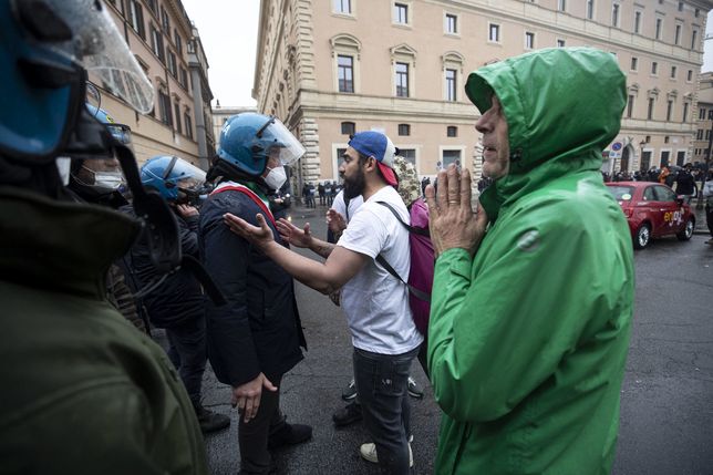
<svg viewBox="0 0 713 475">
<path fill-rule="evenodd" d="M 87 71 L 136 111 L 151 111 L 151 82 L 103 2 L 0 0 L 0 155 L 49 163 L 81 141 Z"/>
</svg>

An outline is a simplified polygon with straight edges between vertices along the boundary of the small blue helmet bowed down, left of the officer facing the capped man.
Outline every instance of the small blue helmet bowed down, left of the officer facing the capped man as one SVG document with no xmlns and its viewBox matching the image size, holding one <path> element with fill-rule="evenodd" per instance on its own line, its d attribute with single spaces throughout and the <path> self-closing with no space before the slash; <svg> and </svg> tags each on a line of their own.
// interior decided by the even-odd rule
<svg viewBox="0 0 713 475">
<path fill-rule="evenodd" d="M 183 158 L 161 155 L 141 167 L 141 180 L 168 202 L 196 202 L 204 190 L 206 173 Z"/>
</svg>

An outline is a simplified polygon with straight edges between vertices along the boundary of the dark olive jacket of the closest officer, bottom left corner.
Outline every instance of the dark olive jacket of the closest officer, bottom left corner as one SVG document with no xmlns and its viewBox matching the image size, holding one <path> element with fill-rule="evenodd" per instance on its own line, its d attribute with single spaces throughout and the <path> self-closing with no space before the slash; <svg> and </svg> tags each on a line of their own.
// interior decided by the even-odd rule
<svg viewBox="0 0 713 475">
<path fill-rule="evenodd" d="M 138 223 L 7 186 L 0 216 L 0 474 L 208 474 L 178 373 L 106 300 Z"/>
</svg>

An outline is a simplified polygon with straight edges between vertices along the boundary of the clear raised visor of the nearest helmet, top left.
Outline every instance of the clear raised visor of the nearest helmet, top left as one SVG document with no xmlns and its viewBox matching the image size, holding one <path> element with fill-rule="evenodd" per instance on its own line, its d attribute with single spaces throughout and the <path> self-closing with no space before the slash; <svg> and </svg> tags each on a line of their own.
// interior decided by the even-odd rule
<svg viewBox="0 0 713 475">
<path fill-rule="evenodd" d="M 154 106 L 154 89 L 128 50 L 103 2 L 43 0 L 72 30 L 72 40 L 53 49 L 95 74 L 103 87 L 142 114 Z"/>
</svg>

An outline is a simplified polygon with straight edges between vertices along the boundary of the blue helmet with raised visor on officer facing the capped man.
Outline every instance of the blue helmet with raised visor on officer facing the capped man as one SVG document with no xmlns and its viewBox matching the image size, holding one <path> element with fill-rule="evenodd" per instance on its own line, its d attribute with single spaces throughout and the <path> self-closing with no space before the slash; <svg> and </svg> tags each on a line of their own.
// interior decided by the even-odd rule
<svg viewBox="0 0 713 475">
<path fill-rule="evenodd" d="M 270 156 L 278 157 L 286 166 L 302 155 L 304 147 L 278 118 L 244 112 L 228 118 L 220 132 L 218 157 L 214 165 L 220 171 L 214 174 L 232 172 L 238 176 L 259 177 Z"/>
</svg>

